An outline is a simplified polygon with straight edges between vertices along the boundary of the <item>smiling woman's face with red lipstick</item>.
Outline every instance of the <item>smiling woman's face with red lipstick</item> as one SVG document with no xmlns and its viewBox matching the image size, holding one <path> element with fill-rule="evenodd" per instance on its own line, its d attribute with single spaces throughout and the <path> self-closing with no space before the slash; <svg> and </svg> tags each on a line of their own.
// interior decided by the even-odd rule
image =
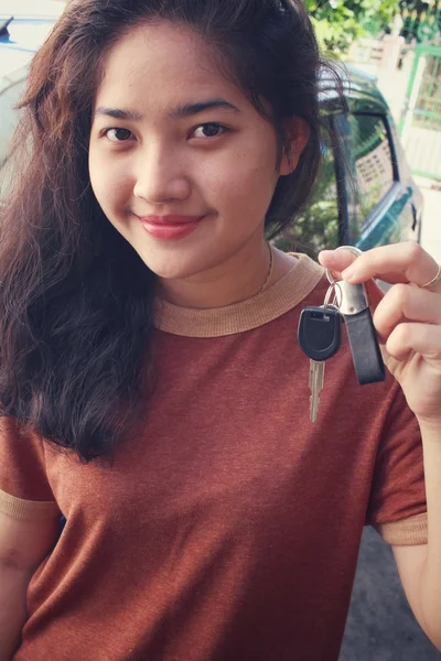
<svg viewBox="0 0 441 661">
<path fill-rule="evenodd" d="M 289 173 L 284 161 L 277 171 L 277 155 L 272 126 L 189 29 L 139 26 L 110 51 L 90 181 L 107 218 L 161 278 L 189 278 L 261 242 L 279 174 Z"/>
</svg>

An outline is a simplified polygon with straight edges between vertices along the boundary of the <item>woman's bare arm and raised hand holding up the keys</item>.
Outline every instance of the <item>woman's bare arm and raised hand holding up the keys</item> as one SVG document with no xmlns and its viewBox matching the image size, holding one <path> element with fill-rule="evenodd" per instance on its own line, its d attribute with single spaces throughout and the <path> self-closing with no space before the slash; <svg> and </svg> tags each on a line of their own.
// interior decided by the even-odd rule
<svg viewBox="0 0 441 661">
<path fill-rule="evenodd" d="M 428 544 L 394 553 L 410 606 L 441 651 L 441 267 L 412 241 L 374 248 L 354 263 L 344 250 L 322 252 L 320 261 L 346 282 L 366 283 L 385 362 L 420 426 Z M 375 278 L 395 286 L 384 294 Z"/>
</svg>

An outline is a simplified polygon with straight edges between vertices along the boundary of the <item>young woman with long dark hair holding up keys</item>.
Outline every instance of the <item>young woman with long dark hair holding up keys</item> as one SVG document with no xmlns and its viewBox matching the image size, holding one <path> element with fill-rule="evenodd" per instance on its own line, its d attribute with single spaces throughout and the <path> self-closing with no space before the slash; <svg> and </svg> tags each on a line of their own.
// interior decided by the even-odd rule
<svg viewBox="0 0 441 661">
<path fill-rule="evenodd" d="M 364 524 L 441 648 L 439 267 L 265 239 L 316 175 L 320 66 L 300 0 L 73 0 L 36 55 L 0 240 L 1 661 L 336 660 Z M 361 388 L 344 343 L 312 424 L 323 267 L 368 283 L 390 373 Z"/>
</svg>

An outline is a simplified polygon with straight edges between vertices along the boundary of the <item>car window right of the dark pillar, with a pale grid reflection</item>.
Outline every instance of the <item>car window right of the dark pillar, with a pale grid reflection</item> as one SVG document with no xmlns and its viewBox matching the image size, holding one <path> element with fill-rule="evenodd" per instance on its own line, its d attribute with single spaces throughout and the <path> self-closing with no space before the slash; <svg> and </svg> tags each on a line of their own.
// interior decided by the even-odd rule
<svg viewBox="0 0 441 661">
<path fill-rule="evenodd" d="M 394 184 L 389 136 L 383 116 L 349 115 L 348 121 L 357 183 L 357 206 L 366 223 L 369 214 Z M 365 223 L 362 223 L 362 229 Z"/>
</svg>

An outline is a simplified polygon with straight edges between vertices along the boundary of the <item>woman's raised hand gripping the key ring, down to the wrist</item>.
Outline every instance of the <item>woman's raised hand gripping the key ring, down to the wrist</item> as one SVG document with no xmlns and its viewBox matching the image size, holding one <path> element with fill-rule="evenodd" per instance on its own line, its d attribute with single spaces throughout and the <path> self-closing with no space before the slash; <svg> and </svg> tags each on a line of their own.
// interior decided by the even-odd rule
<svg viewBox="0 0 441 661">
<path fill-rule="evenodd" d="M 365 283 L 386 366 L 418 420 L 441 425 L 439 264 L 413 241 L 374 248 L 358 258 L 347 250 L 324 250 L 319 260 L 336 279 Z M 384 293 L 374 278 L 392 286 Z"/>
</svg>

